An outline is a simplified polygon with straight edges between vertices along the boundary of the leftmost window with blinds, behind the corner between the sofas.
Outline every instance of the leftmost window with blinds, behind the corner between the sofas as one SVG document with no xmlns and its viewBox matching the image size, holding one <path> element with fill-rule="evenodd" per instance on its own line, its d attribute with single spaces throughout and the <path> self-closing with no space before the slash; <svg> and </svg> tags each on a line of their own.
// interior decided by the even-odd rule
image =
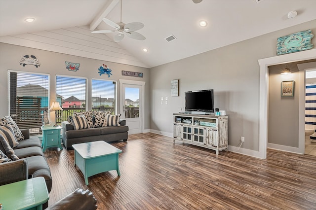
<svg viewBox="0 0 316 210">
<path fill-rule="evenodd" d="M 40 126 L 48 117 L 49 75 L 9 71 L 9 115 L 20 129 L 41 134 Z"/>
</svg>

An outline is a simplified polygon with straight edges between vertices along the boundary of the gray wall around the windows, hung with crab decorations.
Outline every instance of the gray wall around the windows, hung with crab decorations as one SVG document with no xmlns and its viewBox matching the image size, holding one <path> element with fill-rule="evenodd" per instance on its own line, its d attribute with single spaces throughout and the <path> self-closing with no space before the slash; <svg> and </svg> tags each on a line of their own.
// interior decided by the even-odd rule
<svg viewBox="0 0 316 210">
<path fill-rule="evenodd" d="M 40 67 L 36 68 L 33 65 L 26 65 L 23 67 L 19 64 L 21 57 L 25 55 L 34 55 L 39 59 Z M 69 71 L 66 69 L 65 61 L 79 63 L 80 67 L 78 71 Z M 111 70 L 112 74 L 110 78 L 107 75 L 98 74 L 98 68 L 106 64 Z M 128 66 L 118 63 L 111 63 L 107 61 L 100 61 L 88 58 L 82 58 L 78 56 L 71 56 L 62 53 L 49 52 L 45 50 L 39 50 L 29 47 L 21 47 L 17 45 L 0 43 L 0 117 L 8 114 L 8 70 L 27 71 L 34 73 L 48 73 L 50 74 L 50 103 L 55 101 L 55 84 L 56 74 L 68 75 L 68 76 L 81 76 L 88 78 L 88 94 L 87 94 L 87 108 L 91 109 L 91 79 L 128 79 L 145 81 L 145 129 L 150 128 L 149 112 L 150 112 L 150 73 L 149 69 Z M 143 78 L 122 76 L 121 70 L 143 72 Z M 119 110 L 119 82 L 118 87 L 118 112 Z"/>
</svg>

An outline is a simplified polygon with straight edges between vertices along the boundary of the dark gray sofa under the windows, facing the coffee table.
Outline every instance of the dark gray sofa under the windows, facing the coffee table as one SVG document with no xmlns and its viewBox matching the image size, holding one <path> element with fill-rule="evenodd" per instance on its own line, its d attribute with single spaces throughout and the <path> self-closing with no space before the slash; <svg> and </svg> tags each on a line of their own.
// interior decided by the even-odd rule
<svg viewBox="0 0 316 210">
<path fill-rule="evenodd" d="M 86 128 L 75 130 L 74 126 L 68 121 L 61 123 L 61 136 L 64 146 L 73 149 L 72 145 L 90 141 L 104 140 L 106 142 L 123 140 L 127 141 L 128 126 L 123 119 L 119 120 L 120 126 L 105 126 L 98 128 Z"/>
</svg>

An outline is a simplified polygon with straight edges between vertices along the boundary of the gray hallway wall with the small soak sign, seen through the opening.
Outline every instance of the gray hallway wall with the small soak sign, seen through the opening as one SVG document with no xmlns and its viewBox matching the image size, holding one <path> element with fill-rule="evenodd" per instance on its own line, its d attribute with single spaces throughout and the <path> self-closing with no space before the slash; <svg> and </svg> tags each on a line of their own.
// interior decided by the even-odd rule
<svg viewBox="0 0 316 210">
<path fill-rule="evenodd" d="M 269 67 L 269 143 L 298 147 L 299 71 L 286 64 L 291 74 L 280 74 L 285 64 Z M 294 96 L 281 97 L 281 82 L 294 80 Z M 303 84 L 304 86 L 304 84 Z"/>
</svg>

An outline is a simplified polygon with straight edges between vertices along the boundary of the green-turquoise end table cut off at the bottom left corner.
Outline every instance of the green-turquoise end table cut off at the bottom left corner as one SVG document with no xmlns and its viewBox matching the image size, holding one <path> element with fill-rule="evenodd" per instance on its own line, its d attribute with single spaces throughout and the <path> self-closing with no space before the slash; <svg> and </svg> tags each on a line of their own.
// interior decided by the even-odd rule
<svg viewBox="0 0 316 210">
<path fill-rule="evenodd" d="M 30 178 L 0 186 L 3 210 L 42 210 L 49 199 L 43 177 Z"/>
</svg>

